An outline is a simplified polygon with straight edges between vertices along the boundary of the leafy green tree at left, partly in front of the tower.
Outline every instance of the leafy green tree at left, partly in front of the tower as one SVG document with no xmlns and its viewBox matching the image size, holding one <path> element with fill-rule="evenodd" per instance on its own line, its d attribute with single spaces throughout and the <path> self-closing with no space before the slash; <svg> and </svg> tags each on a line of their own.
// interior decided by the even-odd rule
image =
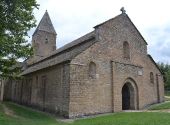
<svg viewBox="0 0 170 125">
<path fill-rule="evenodd" d="M 0 72 L 9 77 L 18 73 L 14 66 L 18 59 L 26 59 L 32 48 L 26 37 L 35 27 L 33 9 L 38 5 L 35 0 L 0 1 Z"/>
</svg>

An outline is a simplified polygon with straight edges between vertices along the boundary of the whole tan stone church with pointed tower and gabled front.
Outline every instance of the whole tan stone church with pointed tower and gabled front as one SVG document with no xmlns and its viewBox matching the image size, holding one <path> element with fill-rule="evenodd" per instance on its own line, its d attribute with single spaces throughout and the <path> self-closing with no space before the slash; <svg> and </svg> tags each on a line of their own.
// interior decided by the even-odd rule
<svg viewBox="0 0 170 125">
<path fill-rule="evenodd" d="M 32 36 L 34 55 L 23 63 L 24 78 L 5 84 L 6 100 L 68 118 L 164 101 L 162 73 L 124 10 L 58 49 L 56 36 L 46 11 Z"/>
</svg>

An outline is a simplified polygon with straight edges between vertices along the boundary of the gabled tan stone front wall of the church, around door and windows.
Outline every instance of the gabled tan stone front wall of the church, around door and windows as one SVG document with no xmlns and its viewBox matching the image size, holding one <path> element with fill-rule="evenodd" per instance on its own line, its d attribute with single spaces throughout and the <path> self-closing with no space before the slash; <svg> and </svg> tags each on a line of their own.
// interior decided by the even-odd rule
<svg viewBox="0 0 170 125">
<path fill-rule="evenodd" d="M 122 87 L 131 80 L 138 88 L 136 109 L 163 101 L 160 71 L 147 55 L 147 43 L 126 14 L 96 27 L 97 43 L 76 56 L 70 66 L 69 116 L 122 110 Z M 123 55 L 123 42 L 130 47 L 130 59 Z M 90 62 L 96 64 L 96 78 L 88 76 Z M 150 72 L 159 74 L 159 88 L 150 83 Z M 155 79 L 154 79 L 155 80 Z"/>
</svg>

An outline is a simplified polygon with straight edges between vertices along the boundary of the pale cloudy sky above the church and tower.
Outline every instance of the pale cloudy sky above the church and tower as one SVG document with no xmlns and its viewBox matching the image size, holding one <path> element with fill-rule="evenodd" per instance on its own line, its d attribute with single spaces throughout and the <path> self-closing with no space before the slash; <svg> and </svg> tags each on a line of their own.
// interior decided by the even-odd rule
<svg viewBox="0 0 170 125">
<path fill-rule="evenodd" d="M 170 0 L 37 0 L 37 24 L 48 11 L 57 32 L 57 47 L 90 32 L 93 27 L 126 13 L 148 42 L 156 62 L 170 63 Z M 29 34 L 32 35 L 32 29 Z"/>
</svg>

